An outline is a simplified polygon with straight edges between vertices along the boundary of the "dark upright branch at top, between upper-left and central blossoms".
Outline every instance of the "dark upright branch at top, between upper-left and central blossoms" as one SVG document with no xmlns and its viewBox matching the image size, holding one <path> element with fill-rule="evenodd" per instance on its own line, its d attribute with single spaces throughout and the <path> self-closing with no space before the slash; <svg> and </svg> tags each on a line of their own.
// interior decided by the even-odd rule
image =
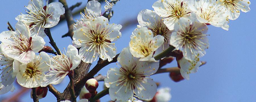
<svg viewBox="0 0 256 102">
<path fill-rule="evenodd" d="M 68 33 L 66 33 L 65 35 L 63 35 L 62 37 L 71 37 L 71 39 L 73 39 L 73 24 L 75 23 L 75 21 L 73 20 L 73 15 L 72 15 L 72 12 L 71 10 L 69 9 L 68 5 L 67 5 L 67 2 L 66 0 L 59 0 L 59 2 L 61 2 L 63 4 L 63 7 L 65 8 L 65 18 L 66 18 L 66 21 L 67 21 L 67 24 L 68 24 L 68 28 L 69 28 L 69 31 Z"/>
</svg>

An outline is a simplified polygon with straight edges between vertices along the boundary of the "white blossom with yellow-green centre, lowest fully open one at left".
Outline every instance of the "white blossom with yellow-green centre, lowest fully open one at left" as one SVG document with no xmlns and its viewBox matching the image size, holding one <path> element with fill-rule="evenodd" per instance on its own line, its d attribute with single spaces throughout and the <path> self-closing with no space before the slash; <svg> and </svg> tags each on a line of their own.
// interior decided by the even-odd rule
<svg viewBox="0 0 256 102">
<path fill-rule="evenodd" d="M 17 73 L 16 78 L 18 84 L 26 88 L 36 88 L 41 86 L 44 73 L 49 70 L 49 66 L 45 63 L 50 57 L 45 52 L 40 52 L 30 63 L 20 63 L 14 61 L 13 69 Z"/>
</svg>

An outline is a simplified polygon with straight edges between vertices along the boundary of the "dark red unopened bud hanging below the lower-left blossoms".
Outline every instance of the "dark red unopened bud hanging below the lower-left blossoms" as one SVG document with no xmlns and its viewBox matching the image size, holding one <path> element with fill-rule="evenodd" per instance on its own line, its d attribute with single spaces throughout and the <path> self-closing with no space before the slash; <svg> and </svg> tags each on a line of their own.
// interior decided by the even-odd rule
<svg viewBox="0 0 256 102">
<path fill-rule="evenodd" d="M 38 99 L 44 98 L 46 96 L 47 92 L 48 92 L 48 88 L 47 87 L 40 87 L 39 86 L 39 87 L 36 88 L 36 95 L 37 95 Z M 33 94 L 33 92 L 31 90 L 31 93 L 30 93 L 30 97 L 31 98 L 33 98 L 32 94 Z"/>
</svg>

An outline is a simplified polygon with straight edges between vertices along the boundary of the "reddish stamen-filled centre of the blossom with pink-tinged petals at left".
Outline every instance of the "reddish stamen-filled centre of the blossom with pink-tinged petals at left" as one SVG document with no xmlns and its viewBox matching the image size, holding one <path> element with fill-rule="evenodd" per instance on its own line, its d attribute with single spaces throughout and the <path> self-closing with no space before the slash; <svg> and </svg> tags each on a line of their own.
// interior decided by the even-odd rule
<svg viewBox="0 0 256 102">
<path fill-rule="evenodd" d="M 24 53 L 31 50 L 30 47 L 31 47 L 32 37 L 30 37 L 30 39 L 27 39 L 26 36 L 20 34 L 19 36 L 16 36 L 16 37 L 11 36 L 11 38 L 14 41 L 13 48 L 16 52 Z"/>
</svg>

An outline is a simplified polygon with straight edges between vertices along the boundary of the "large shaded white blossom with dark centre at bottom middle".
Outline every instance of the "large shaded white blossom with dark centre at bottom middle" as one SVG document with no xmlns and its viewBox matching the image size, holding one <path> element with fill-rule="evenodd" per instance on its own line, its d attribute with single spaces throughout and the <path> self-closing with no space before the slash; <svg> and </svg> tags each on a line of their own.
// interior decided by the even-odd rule
<svg viewBox="0 0 256 102">
<path fill-rule="evenodd" d="M 133 101 L 134 94 L 142 100 L 150 100 L 156 94 L 156 83 L 150 76 L 158 70 L 159 62 L 139 61 L 132 56 L 129 47 L 124 48 L 117 58 L 120 68 L 110 68 L 104 80 L 114 101 Z"/>
</svg>

